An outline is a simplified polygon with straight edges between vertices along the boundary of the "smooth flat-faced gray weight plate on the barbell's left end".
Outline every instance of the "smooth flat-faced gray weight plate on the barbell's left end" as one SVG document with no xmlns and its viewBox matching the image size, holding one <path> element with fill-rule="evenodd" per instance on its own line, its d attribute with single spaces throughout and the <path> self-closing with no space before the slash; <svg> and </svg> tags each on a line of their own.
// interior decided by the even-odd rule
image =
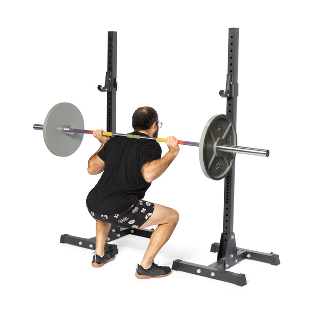
<svg viewBox="0 0 314 314">
<path fill-rule="evenodd" d="M 56 156 L 72 155 L 83 140 L 83 134 L 65 134 L 64 127 L 84 129 L 83 116 L 75 105 L 60 103 L 51 108 L 44 123 L 44 140 L 48 149 Z"/>
</svg>

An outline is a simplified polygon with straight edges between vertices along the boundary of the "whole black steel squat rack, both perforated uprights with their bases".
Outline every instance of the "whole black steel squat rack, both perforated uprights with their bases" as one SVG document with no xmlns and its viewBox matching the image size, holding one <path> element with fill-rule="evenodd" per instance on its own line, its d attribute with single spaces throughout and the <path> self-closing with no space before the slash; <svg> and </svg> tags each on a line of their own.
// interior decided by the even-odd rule
<svg viewBox="0 0 314 314">
<path fill-rule="evenodd" d="M 238 43 L 239 29 L 229 28 L 228 35 L 228 73 L 226 89 L 220 90 L 219 95 L 226 98 L 226 114 L 229 116 L 236 127 L 236 107 L 238 96 Z M 101 92 L 107 92 L 107 132 L 116 130 L 116 92 L 117 92 L 117 32 L 108 32 L 108 52 L 107 52 L 107 72 L 105 76 L 105 85 L 99 85 Z M 259 262 L 266 262 L 272 265 L 279 265 L 279 256 L 273 253 L 267 254 L 253 250 L 247 250 L 236 247 L 235 233 L 233 231 L 234 223 L 234 195 L 235 195 L 235 162 L 231 171 L 225 177 L 224 185 L 224 213 L 223 213 L 223 232 L 220 242 L 212 243 L 210 251 L 217 254 L 217 261 L 205 266 L 182 260 L 175 260 L 172 264 L 173 270 L 184 271 L 208 278 L 233 283 L 237 286 L 246 285 L 245 274 L 237 274 L 227 271 L 238 262 L 249 259 Z M 120 238 L 124 235 L 138 235 L 150 238 L 154 229 L 128 229 L 118 226 L 111 226 L 108 233 L 105 250 L 118 254 L 118 248 L 115 244 L 108 242 Z M 96 237 L 82 238 L 73 235 L 64 234 L 60 238 L 61 243 L 68 243 L 84 248 L 95 249 Z"/>
</svg>

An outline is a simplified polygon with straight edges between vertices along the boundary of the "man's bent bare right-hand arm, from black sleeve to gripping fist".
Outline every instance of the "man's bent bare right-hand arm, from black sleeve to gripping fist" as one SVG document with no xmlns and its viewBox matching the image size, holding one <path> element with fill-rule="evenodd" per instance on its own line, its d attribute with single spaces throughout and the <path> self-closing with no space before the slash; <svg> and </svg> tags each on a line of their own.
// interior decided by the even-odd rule
<svg viewBox="0 0 314 314">
<path fill-rule="evenodd" d="M 180 150 L 178 140 L 174 136 L 168 136 L 167 145 L 169 148 L 167 154 L 160 159 L 145 163 L 142 167 L 142 176 L 146 182 L 151 183 L 160 177 L 177 157 Z"/>
</svg>

